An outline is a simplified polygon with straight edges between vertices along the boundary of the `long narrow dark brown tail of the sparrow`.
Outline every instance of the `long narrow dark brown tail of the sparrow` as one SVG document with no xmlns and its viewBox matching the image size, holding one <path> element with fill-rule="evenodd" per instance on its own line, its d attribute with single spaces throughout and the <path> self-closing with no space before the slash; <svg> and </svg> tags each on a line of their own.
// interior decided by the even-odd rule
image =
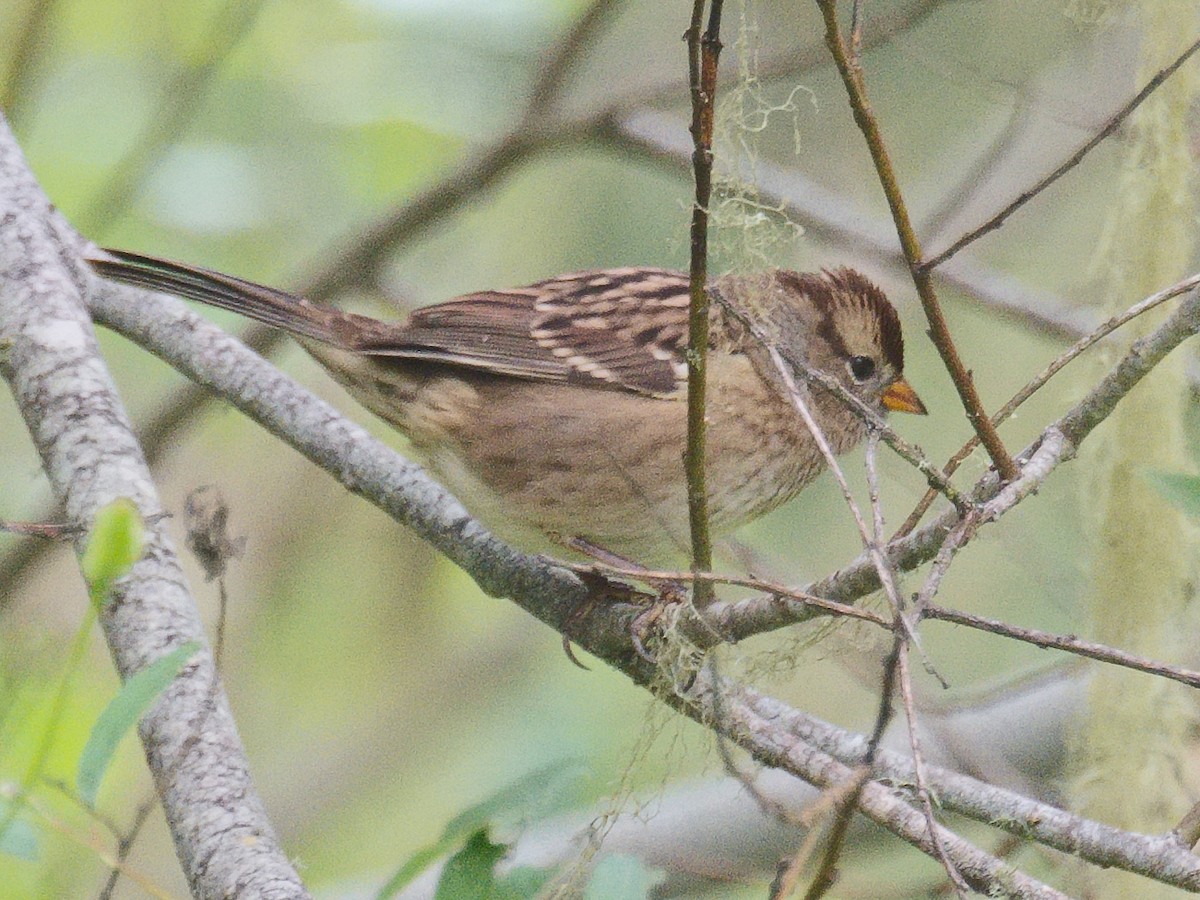
<svg viewBox="0 0 1200 900">
<path fill-rule="evenodd" d="M 338 313 L 314 306 L 286 290 L 242 281 L 211 269 L 127 253 L 124 250 L 100 251 L 88 257 L 88 263 L 113 281 L 230 310 L 298 337 L 308 337 L 335 347 L 347 346 L 344 336 L 340 336 L 334 328 L 334 320 L 340 318 Z"/>
</svg>

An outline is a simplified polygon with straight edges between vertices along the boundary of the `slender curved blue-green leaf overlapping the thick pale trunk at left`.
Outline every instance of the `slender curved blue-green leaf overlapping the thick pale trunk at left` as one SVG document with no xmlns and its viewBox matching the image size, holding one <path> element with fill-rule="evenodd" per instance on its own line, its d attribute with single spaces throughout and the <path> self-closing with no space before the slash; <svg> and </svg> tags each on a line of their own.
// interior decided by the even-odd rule
<svg viewBox="0 0 1200 900">
<path fill-rule="evenodd" d="M 196 641 L 176 647 L 164 656 L 160 656 L 140 672 L 130 677 L 116 696 L 104 707 L 96 725 L 92 726 L 88 743 L 79 755 L 79 770 L 76 774 L 76 790 L 79 798 L 94 806 L 100 782 L 104 780 L 116 745 L 138 724 L 145 712 L 160 694 L 175 680 L 175 676 L 200 648 Z"/>
</svg>

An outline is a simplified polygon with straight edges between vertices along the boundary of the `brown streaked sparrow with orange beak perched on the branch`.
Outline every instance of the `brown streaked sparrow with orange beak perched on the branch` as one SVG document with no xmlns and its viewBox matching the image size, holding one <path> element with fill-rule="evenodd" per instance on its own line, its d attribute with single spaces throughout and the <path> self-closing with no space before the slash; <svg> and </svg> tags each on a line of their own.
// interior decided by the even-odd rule
<svg viewBox="0 0 1200 900">
<path fill-rule="evenodd" d="M 389 323 L 163 259 L 106 251 L 89 262 L 107 277 L 287 330 L 510 539 L 578 538 L 644 564 L 686 552 L 682 272 L 575 272 Z M 763 340 L 797 372 L 832 376 L 871 409 L 924 414 L 902 378 L 895 310 L 859 272 L 725 276 L 709 293 L 706 460 L 715 530 L 774 509 L 824 468 Z M 811 388 L 809 403 L 835 452 L 864 437 L 860 415 L 829 390 Z"/>
</svg>

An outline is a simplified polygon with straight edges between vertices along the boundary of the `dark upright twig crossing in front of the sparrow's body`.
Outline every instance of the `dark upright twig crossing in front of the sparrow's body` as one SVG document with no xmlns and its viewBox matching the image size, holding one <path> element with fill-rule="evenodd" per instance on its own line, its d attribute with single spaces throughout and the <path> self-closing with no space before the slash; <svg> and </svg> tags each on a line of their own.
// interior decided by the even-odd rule
<svg viewBox="0 0 1200 900">
<path fill-rule="evenodd" d="M 708 202 L 713 191 L 713 116 L 716 107 L 716 65 L 721 54 L 722 0 L 712 0 L 708 28 L 704 0 L 695 0 L 688 28 L 688 86 L 691 92 L 692 178 L 696 199 L 691 208 L 691 262 L 688 268 L 691 302 L 688 311 L 688 522 L 694 571 L 713 568 L 713 539 L 708 523 L 706 451 L 706 395 L 708 379 Z M 696 582 L 694 602 L 703 610 L 713 601 L 712 584 Z"/>
</svg>

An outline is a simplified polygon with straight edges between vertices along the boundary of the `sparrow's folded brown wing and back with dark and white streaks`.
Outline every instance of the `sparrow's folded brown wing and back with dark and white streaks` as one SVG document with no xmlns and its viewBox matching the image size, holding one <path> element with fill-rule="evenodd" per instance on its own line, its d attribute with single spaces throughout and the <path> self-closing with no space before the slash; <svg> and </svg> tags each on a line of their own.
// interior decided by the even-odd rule
<svg viewBox="0 0 1200 900">
<path fill-rule="evenodd" d="M 688 277 L 664 269 L 562 275 L 418 310 L 361 353 L 539 380 L 668 395 L 686 378 Z"/>
</svg>

